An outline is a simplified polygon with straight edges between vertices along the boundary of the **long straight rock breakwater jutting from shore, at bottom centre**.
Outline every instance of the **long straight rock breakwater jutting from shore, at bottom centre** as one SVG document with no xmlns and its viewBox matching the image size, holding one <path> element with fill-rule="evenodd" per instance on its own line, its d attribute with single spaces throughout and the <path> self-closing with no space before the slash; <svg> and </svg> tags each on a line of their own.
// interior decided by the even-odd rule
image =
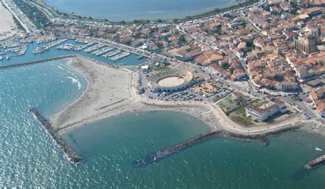
<svg viewBox="0 0 325 189">
<path fill-rule="evenodd" d="M 149 154 L 145 158 L 134 160 L 132 162 L 132 164 L 133 164 L 133 166 L 136 166 L 136 167 L 147 166 L 149 164 L 153 164 L 153 163 L 163 160 L 164 158 L 167 158 L 173 154 L 176 154 L 188 147 L 191 147 L 197 143 L 205 141 L 206 139 L 209 139 L 209 138 L 215 136 L 215 134 L 217 134 L 217 131 L 207 132 L 206 134 L 202 134 L 202 135 L 197 136 L 193 139 L 189 139 L 189 141 L 186 141 L 184 143 L 180 143 L 180 144 L 173 145 L 171 147 L 167 147 L 165 149 L 156 151 L 154 154 Z"/>
</svg>

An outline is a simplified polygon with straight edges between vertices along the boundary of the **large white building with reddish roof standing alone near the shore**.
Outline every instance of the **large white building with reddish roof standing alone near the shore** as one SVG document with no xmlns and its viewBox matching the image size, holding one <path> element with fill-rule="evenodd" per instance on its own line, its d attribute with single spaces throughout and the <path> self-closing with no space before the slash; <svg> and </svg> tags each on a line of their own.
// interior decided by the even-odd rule
<svg viewBox="0 0 325 189">
<path fill-rule="evenodd" d="M 285 102 L 276 100 L 272 96 L 265 98 L 265 100 L 261 102 L 250 104 L 245 107 L 246 116 L 254 117 L 258 121 L 264 121 L 277 113 L 285 113 L 286 111 Z"/>
</svg>

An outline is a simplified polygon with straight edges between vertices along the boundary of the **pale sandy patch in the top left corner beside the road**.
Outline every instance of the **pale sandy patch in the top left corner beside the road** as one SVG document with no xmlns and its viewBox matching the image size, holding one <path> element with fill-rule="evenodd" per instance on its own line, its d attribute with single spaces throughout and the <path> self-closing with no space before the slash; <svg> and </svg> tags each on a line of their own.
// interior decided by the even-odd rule
<svg viewBox="0 0 325 189">
<path fill-rule="evenodd" d="M 5 8 L 2 3 L 0 3 L 0 13 L 0 41 L 5 40 L 6 38 L 10 38 L 16 33 L 21 32 L 16 26 L 12 14 Z"/>
</svg>

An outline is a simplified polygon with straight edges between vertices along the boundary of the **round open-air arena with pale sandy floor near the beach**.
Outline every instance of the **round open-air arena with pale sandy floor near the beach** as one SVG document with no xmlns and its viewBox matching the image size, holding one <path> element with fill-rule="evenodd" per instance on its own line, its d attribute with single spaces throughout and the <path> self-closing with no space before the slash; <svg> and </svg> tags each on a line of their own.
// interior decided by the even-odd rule
<svg viewBox="0 0 325 189">
<path fill-rule="evenodd" d="M 193 74 L 186 70 L 166 70 L 149 78 L 149 87 L 153 91 L 175 92 L 193 85 Z"/>
</svg>

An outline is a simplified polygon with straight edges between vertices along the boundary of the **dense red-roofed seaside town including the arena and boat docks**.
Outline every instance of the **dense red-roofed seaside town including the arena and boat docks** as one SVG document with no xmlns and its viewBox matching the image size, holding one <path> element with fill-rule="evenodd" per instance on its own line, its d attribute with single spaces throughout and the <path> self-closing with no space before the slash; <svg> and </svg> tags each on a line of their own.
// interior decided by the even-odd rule
<svg viewBox="0 0 325 189">
<path fill-rule="evenodd" d="M 241 126 L 325 117 L 325 1 L 252 2 L 178 23 L 56 17 L 37 1 L 2 0 L 23 34 L 0 41 L 0 66 L 56 48 L 114 62 L 135 54 L 141 98 L 219 106 Z M 36 17 L 32 15 L 37 15 Z"/>
</svg>

